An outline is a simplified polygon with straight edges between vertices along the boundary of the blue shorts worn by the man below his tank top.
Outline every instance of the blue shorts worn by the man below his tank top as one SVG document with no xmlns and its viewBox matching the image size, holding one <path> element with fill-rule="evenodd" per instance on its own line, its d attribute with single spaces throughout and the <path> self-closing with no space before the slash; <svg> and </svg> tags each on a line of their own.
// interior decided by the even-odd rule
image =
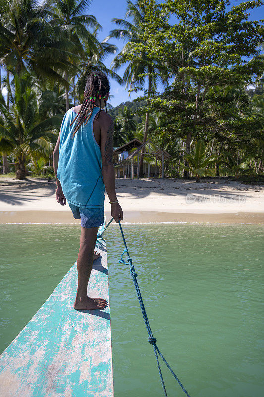
<svg viewBox="0 0 264 397">
<path fill-rule="evenodd" d="M 81 219 L 82 227 L 98 227 L 104 224 L 104 207 L 101 208 L 80 208 L 69 204 L 74 219 Z"/>
</svg>

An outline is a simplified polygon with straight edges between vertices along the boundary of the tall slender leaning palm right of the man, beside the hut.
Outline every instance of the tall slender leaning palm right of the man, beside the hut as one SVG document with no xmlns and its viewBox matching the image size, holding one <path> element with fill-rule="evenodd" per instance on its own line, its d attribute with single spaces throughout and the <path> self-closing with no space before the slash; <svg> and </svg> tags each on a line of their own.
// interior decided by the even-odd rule
<svg viewBox="0 0 264 397">
<path fill-rule="evenodd" d="M 141 23 L 144 22 L 144 5 L 137 2 L 133 4 L 130 0 L 127 1 L 127 11 L 125 14 L 125 19 L 114 18 L 112 22 L 120 26 L 120 29 L 114 29 L 110 32 L 109 37 L 115 37 L 117 39 L 128 40 L 121 52 L 115 57 L 112 62 L 113 70 L 117 70 L 121 65 L 127 63 L 126 55 L 131 52 L 129 44 L 140 43 L 141 38 Z M 131 17 L 133 23 L 129 22 L 127 18 Z M 137 59 L 129 61 L 128 66 L 125 69 L 123 75 L 123 82 L 126 84 L 126 88 L 132 90 L 137 87 L 145 86 L 144 73 L 148 74 L 148 100 L 147 106 L 150 105 L 151 92 L 157 87 L 158 77 L 155 74 L 158 70 L 157 66 L 153 66 L 151 60 L 148 58 L 146 52 L 143 50 Z M 164 82 L 164 81 L 162 81 Z M 143 143 L 147 141 L 148 137 L 148 127 L 149 127 L 149 112 L 146 112 L 145 116 L 145 126 L 143 134 Z M 142 177 L 143 174 L 143 157 L 144 157 L 145 146 L 143 146 L 140 155 L 139 162 L 139 175 Z"/>
</svg>

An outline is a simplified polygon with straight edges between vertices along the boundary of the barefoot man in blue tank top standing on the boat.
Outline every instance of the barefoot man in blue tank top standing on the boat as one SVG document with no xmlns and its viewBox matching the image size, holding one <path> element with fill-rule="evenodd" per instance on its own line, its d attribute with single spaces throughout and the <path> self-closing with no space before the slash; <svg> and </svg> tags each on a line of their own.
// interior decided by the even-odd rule
<svg viewBox="0 0 264 397">
<path fill-rule="evenodd" d="M 108 305 L 106 299 L 87 296 L 93 260 L 99 257 L 94 250 L 98 228 L 104 222 L 105 187 L 112 217 L 116 223 L 119 218 L 123 220 L 115 192 L 114 124 L 106 108 L 109 90 L 104 73 L 96 71 L 88 76 L 84 101 L 65 113 L 53 152 L 57 202 L 66 205 L 67 200 L 73 217 L 81 219 L 75 309 L 105 309 Z"/>
</svg>

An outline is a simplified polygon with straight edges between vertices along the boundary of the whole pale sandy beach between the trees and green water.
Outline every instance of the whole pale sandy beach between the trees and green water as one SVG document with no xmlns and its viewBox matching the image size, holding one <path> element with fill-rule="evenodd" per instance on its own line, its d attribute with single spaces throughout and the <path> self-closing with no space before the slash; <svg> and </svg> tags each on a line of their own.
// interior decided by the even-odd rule
<svg viewBox="0 0 264 397">
<path fill-rule="evenodd" d="M 55 180 L 0 177 L 0 223 L 79 224 L 57 203 Z M 227 178 L 116 179 L 124 223 L 264 223 L 264 188 Z M 110 219 L 106 195 L 105 214 Z"/>
</svg>

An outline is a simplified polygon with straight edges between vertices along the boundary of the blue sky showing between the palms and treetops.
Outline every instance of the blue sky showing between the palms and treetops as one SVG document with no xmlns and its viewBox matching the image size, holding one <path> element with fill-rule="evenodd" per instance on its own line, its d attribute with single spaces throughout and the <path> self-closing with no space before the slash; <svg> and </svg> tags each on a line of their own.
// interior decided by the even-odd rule
<svg viewBox="0 0 264 397">
<path fill-rule="evenodd" d="M 132 2 L 134 2 L 132 0 Z M 161 2 L 161 1 L 160 1 Z M 243 2 L 243 0 L 231 0 L 231 6 L 237 5 Z M 124 19 L 126 12 L 126 0 L 92 0 L 90 7 L 87 9 L 86 13 L 94 15 L 98 23 L 102 26 L 102 30 L 98 32 L 98 39 L 102 41 L 105 39 L 112 29 L 116 28 L 116 25 L 112 23 L 113 18 Z M 250 12 L 251 20 L 259 20 L 264 18 L 264 7 L 259 7 Z M 123 48 L 125 42 L 122 40 L 110 39 L 110 43 L 115 44 L 118 47 L 117 53 Z M 105 59 L 105 65 L 110 67 L 112 60 L 116 54 L 111 54 Z M 125 70 L 125 66 L 118 69 L 117 73 L 122 77 Z M 158 87 L 161 89 L 161 87 Z M 122 102 L 126 102 L 137 98 L 142 95 L 143 91 L 131 92 L 129 97 L 128 89 L 125 86 L 121 86 L 115 80 L 110 78 L 110 104 L 112 106 L 117 106 Z M 5 92 L 3 92 L 5 95 Z"/>
</svg>

